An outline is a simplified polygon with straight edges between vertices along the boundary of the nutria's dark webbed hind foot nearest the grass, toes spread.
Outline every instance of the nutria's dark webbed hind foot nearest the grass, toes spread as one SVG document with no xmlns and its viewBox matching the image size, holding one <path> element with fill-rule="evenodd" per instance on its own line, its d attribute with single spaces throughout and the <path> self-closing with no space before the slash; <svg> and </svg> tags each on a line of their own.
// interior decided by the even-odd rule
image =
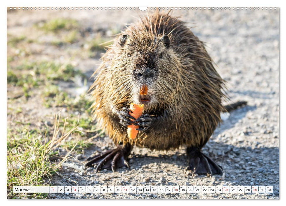
<svg viewBox="0 0 286 206">
<path fill-rule="evenodd" d="M 113 172 L 115 172 L 117 168 L 123 166 L 130 168 L 127 158 L 130 155 L 131 150 L 132 147 L 130 144 L 125 144 L 124 146 L 118 145 L 116 149 L 110 149 L 99 155 L 87 158 L 88 162 L 85 166 L 97 164 L 95 172 L 98 172 L 102 167 L 112 170 Z"/>
</svg>

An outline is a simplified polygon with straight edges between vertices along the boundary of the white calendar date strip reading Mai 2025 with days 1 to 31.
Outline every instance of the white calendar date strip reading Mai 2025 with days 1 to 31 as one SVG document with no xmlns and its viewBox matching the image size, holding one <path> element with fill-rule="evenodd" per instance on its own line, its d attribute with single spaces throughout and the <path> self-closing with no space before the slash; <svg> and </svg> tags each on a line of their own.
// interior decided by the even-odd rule
<svg viewBox="0 0 286 206">
<path fill-rule="evenodd" d="M 15 186 L 15 193 L 273 193 L 273 186 Z"/>
</svg>

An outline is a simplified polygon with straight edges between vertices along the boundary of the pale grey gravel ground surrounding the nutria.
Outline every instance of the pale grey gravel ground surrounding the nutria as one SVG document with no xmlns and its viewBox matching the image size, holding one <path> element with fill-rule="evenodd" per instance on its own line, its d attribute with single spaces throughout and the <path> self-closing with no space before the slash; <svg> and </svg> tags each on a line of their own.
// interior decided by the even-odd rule
<svg viewBox="0 0 286 206">
<path fill-rule="evenodd" d="M 9 13 L 9 33 L 28 32 L 35 21 L 61 16 L 77 19 L 85 27 L 124 28 L 138 18 L 139 11 L 33 11 L 20 15 Z M 39 15 L 41 14 L 41 15 Z M 174 11 L 181 19 L 195 26 L 192 31 L 207 42 L 207 50 L 221 76 L 227 80 L 229 98 L 245 100 L 246 107 L 231 112 L 203 148 L 225 171 L 225 178 L 205 175 L 192 177 L 185 173 L 185 148 L 175 151 L 151 151 L 134 148 L 130 155 L 131 170 L 84 172 L 63 167 L 61 175 L 68 176 L 79 186 L 273 186 L 272 194 L 49 194 L 52 199 L 279 199 L 279 9 Z M 35 18 L 37 17 L 37 18 Z M 43 37 L 44 38 L 44 37 Z M 77 50 L 68 52 L 42 48 L 45 52 L 34 58 L 68 59 Z M 32 57 L 31 57 L 32 58 Z M 78 68 L 92 74 L 100 60 L 86 57 L 73 59 Z M 91 82 L 88 82 L 91 84 Z M 67 91 L 69 91 L 67 88 Z M 35 110 L 36 111 L 36 110 Z M 34 112 L 37 113 L 37 112 Z M 49 112 L 46 112 L 48 115 Z M 40 115 L 39 115 L 40 116 Z M 51 115 L 53 116 L 53 115 Z M 34 116 L 35 117 L 35 116 Z M 32 118 L 32 117 L 31 117 Z M 9 121 L 8 121 L 9 122 Z M 108 137 L 97 138 L 94 145 L 75 161 L 82 165 L 86 157 L 113 148 Z M 54 175 L 52 184 L 71 186 Z"/>
</svg>

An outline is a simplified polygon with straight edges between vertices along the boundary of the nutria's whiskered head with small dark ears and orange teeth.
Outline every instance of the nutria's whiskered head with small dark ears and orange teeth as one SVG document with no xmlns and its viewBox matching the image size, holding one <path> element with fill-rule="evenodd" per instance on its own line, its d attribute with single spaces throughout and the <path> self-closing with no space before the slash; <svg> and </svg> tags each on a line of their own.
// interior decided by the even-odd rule
<svg viewBox="0 0 286 206">
<path fill-rule="evenodd" d="M 130 101 L 145 104 L 145 108 L 170 101 L 178 82 L 178 57 L 169 36 L 153 36 L 144 30 L 121 34 L 117 46 L 114 78 L 121 79 L 124 89 L 129 90 Z"/>
</svg>

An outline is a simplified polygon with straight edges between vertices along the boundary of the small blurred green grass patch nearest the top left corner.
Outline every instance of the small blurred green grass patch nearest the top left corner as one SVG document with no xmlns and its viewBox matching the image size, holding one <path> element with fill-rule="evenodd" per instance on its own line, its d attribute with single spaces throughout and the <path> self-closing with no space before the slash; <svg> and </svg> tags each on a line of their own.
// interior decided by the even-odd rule
<svg viewBox="0 0 286 206">
<path fill-rule="evenodd" d="M 52 19 L 43 25 L 38 24 L 38 27 L 45 30 L 45 31 L 52 31 L 52 32 L 58 32 L 62 29 L 65 30 L 71 30 L 76 29 L 78 26 L 78 23 L 74 19 Z"/>
</svg>

